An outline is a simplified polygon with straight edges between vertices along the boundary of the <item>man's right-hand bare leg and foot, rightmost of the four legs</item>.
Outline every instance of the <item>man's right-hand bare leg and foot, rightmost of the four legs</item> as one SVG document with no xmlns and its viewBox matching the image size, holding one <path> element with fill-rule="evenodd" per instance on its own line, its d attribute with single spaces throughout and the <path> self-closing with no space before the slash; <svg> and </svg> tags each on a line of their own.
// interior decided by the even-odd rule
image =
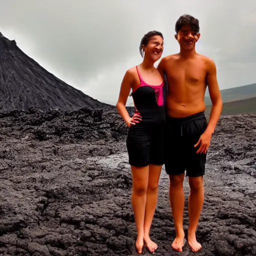
<svg viewBox="0 0 256 256">
<path fill-rule="evenodd" d="M 189 177 L 190 194 L 188 197 L 189 228 L 187 232 L 187 242 L 191 250 L 196 252 L 201 249 L 201 244 L 197 242 L 195 231 L 199 221 L 200 212 L 203 205 L 203 178 Z"/>
</svg>

